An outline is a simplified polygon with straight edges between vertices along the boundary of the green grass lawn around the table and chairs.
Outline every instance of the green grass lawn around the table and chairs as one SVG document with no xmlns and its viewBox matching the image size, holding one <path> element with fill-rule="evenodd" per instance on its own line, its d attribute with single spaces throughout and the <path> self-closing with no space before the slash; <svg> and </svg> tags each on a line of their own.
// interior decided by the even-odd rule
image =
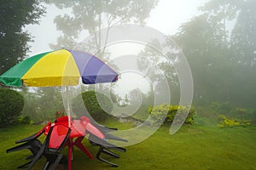
<svg viewBox="0 0 256 170">
<path fill-rule="evenodd" d="M 108 122 L 110 127 L 129 128 L 129 124 Z M 18 125 L 0 129 L 0 169 L 15 169 L 26 162 L 29 151 L 6 153 L 6 149 L 42 126 Z M 96 154 L 96 147 L 88 144 L 88 149 Z M 110 167 L 102 161 L 90 160 L 80 150 L 74 150 L 73 169 L 256 169 L 256 127 L 218 128 L 199 125 L 184 125 L 174 135 L 164 126 L 142 143 L 126 147 L 120 158 L 108 157 L 119 164 Z M 64 150 L 67 154 L 67 149 Z M 44 160 L 42 160 L 44 161 Z M 43 162 L 35 169 L 41 169 Z"/>
</svg>

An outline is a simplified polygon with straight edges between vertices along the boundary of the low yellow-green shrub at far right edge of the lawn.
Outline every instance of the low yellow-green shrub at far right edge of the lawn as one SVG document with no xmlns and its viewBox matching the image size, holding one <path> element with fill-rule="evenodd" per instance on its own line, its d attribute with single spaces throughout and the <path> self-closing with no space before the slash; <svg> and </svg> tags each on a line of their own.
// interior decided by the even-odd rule
<svg viewBox="0 0 256 170">
<path fill-rule="evenodd" d="M 218 116 L 220 124 L 218 127 L 245 127 L 251 125 L 251 121 L 248 120 L 238 120 L 238 119 L 229 119 L 224 115 Z"/>
</svg>

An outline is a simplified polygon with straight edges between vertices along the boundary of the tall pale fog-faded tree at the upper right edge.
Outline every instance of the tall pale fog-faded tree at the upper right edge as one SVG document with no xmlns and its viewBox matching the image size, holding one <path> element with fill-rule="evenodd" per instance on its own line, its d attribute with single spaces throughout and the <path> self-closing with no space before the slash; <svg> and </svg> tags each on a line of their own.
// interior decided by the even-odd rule
<svg viewBox="0 0 256 170">
<path fill-rule="evenodd" d="M 232 56 L 241 65 L 256 64 L 256 1 L 247 0 L 241 5 L 236 26 L 232 31 Z"/>
</svg>

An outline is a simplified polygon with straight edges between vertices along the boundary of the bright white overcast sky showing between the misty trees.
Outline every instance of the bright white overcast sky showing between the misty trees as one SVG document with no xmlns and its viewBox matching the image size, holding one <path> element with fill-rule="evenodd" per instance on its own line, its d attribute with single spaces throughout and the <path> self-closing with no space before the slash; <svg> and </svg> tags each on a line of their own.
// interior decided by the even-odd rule
<svg viewBox="0 0 256 170">
<path fill-rule="evenodd" d="M 146 20 L 147 26 L 152 27 L 165 35 L 172 35 L 177 32 L 182 23 L 192 19 L 199 14 L 198 7 L 206 3 L 207 0 L 160 0 L 157 7 L 154 8 L 149 18 Z M 55 5 L 47 6 L 47 14 L 42 18 L 40 25 L 27 26 L 26 29 L 31 32 L 34 42 L 30 43 L 31 53 L 29 55 L 44 53 L 50 51 L 49 43 L 56 43 L 57 37 L 61 35 L 60 31 L 56 31 L 54 19 L 58 14 L 65 14 L 70 11 L 63 11 L 55 7 Z M 84 37 L 79 39 L 84 40 Z M 125 51 L 129 44 L 125 44 Z M 132 46 L 133 47 L 133 46 Z M 119 47 L 117 47 L 118 50 Z M 119 81 L 116 83 L 115 91 L 120 96 L 125 96 L 133 89 L 139 89 L 146 93 L 149 83 L 146 77 L 135 72 L 126 71 L 121 73 Z M 131 80 L 136 80 L 132 81 Z M 127 87 L 129 84 L 129 87 Z"/>
</svg>

